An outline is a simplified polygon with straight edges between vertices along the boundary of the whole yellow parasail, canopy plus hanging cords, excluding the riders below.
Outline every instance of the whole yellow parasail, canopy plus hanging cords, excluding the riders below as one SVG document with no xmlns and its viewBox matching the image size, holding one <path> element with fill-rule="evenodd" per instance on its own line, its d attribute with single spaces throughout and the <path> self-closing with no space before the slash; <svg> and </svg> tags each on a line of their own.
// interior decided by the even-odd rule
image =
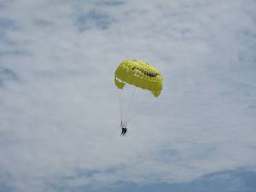
<svg viewBox="0 0 256 192">
<path fill-rule="evenodd" d="M 130 114 L 131 105 L 138 90 L 148 90 L 155 97 L 160 96 L 163 89 L 163 76 L 156 68 L 144 61 L 125 60 L 122 61 L 114 73 L 114 83 L 121 90 L 119 96 L 119 108 L 121 122 L 128 123 L 135 115 Z M 124 103 L 125 87 L 131 85 L 134 88 L 131 98 Z M 129 89 L 126 89 L 129 90 Z M 129 102 L 130 100 L 130 102 Z M 127 102 L 128 101 L 128 102 Z M 124 108 L 124 105 L 126 107 Z"/>
</svg>

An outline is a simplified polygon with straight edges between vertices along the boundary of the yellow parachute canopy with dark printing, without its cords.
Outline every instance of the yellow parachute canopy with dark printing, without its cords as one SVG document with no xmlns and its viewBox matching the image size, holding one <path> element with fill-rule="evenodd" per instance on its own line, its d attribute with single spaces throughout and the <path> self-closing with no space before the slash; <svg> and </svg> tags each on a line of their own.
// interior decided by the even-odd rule
<svg viewBox="0 0 256 192">
<path fill-rule="evenodd" d="M 114 82 L 119 89 L 125 84 L 132 84 L 144 90 L 149 90 L 154 96 L 159 96 L 162 90 L 163 77 L 161 73 L 144 61 L 125 60 L 115 71 Z"/>
</svg>

